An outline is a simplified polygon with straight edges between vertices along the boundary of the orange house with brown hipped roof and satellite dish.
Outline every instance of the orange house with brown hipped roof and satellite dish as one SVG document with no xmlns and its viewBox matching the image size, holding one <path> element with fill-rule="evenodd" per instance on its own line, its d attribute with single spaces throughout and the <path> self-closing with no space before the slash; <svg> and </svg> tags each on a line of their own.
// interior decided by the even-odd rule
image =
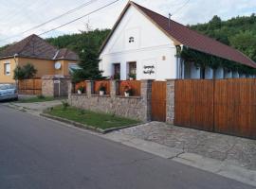
<svg viewBox="0 0 256 189">
<path fill-rule="evenodd" d="M 70 68 L 76 67 L 79 57 L 66 48 L 57 49 L 37 35 L 10 45 L 0 52 L 0 83 L 12 83 L 13 70 L 17 65 L 33 64 L 36 77 L 45 75 L 69 76 Z"/>
</svg>

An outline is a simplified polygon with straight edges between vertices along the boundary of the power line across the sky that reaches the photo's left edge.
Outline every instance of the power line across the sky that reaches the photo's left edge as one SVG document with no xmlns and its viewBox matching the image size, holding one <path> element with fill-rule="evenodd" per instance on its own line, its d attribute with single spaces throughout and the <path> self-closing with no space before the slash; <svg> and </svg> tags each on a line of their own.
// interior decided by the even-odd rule
<svg viewBox="0 0 256 189">
<path fill-rule="evenodd" d="M 20 35 L 22 35 L 22 34 L 24 34 L 24 33 L 27 33 L 27 31 L 34 30 L 34 29 L 39 28 L 39 27 L 41 27 L 41 26 L 45 26 L 46 24 L 51 23 L 52 21 L 55 21 L 55 20 L 57 20 L 57 19 L 60 19 L 60 18 L 64 17 L 65 15 L 71 14 L 71 13 L 73 13 L 73 12 L 79 10 L 79 9 L 82 9 L 82 8 L 84 8 L 84 7 L 86 7 L 86 6 L 88 6 L 88 5 L 92 4 L 92 3 L 94 3 L 95 1 L 97 1 L 97 0 L 91 0 L 91 1 L 89 1 L 89 2 L 83 3 L 81 6 L 75 8 L 75 9 L 70 9 L 70 10 L 64 12 L 63 14 L 61 14 L 61 15 L 59 15 L 59 16 L 56 16 L 56 17 L 54 17 L 54 18 L 52 18 L 52 19 L 46 21 L 45 23 L 42 23 L 42 24 L 40 24 L 40 25 L 38 25 L 38 26 L 30 27 L 30 28 L 28 28 L 28 29 L 25 30 L 25 31 L 22 31 L 22 32 L 20 32 L 20 33 L 18 33 L 18 34 L 15 34 L 15 35 L 13 35 L 13 36 L 10 36 L 9 38 L 0 40 L 0 42 L 9 40 L 9 39 L 11 39 L 11 38 L 13 38 L 13 37 L 20 36 Z"/>
</svg>

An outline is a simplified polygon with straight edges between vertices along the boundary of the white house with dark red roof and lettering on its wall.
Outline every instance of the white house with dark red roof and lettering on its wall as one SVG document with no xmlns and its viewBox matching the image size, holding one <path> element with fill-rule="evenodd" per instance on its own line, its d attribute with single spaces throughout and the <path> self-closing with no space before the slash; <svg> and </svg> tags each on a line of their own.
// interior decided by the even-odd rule
<svg viewBox="0 0 256 189">
<path fill-rule="evenodd" d="M 129 74 L 136 74 L 137 79 L 200 78 L 200 68 L 176 56 L 183 46 L 256 68 L 253 60 L 232 47 L 134 2 L 127 4 L 103 43 L 99 67 L 104 77 L 120 79 Z M 205 78 L 245 77 L 238 72 L 226 73 L 221 67 L 214 72 L 209 67 L 205 72 Z"/>
</svg>

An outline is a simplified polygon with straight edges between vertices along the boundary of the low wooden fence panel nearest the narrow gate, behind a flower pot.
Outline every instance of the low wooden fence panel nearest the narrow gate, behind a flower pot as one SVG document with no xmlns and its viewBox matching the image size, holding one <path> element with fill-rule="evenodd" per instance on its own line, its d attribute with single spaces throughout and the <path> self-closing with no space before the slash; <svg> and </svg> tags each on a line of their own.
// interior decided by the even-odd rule
<svg viewBox="0 0 256 189">
<path fill-rule="evenodd" d="M 124 95 L 124 91 L 127 86 L 131 87 L 133 96 L 140 96 L 141 82 L 139 80 L 119 81 L 119 95 Z"/>
</svg>

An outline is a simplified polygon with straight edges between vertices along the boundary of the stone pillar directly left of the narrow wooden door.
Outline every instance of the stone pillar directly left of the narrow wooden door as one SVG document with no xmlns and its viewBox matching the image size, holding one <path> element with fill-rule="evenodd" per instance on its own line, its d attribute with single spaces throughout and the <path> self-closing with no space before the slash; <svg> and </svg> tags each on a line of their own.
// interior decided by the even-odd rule
<svg viewBox="0 0 256 189">
<path fill-rule="evenodd" d="M 151 98 L 152 98 L 152 79 L 143 79 L 141 80 L 141 89 L 140 94 L 143 103 L 144 115 L 142 121 L 151 121 Z"/>
</svg>

